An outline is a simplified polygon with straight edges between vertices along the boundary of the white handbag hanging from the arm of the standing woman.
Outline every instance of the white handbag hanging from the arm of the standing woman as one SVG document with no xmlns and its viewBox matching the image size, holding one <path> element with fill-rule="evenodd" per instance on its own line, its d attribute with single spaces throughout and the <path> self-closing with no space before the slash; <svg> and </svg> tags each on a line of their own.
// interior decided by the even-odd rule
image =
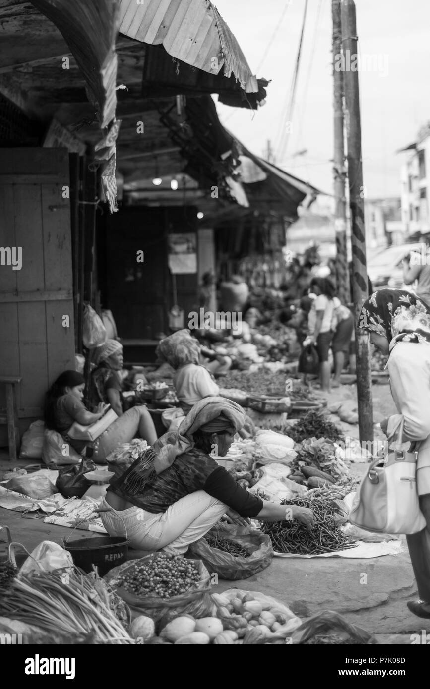
<svg viewBox="0 0 430 689">
<path fill-rule="evenodd" d="M 426 525 L 416 486 L 417 452 L 400 449 L 403 419 L 396 447 L 377 457 L 360 483 L 349 512 L 351 524 L 376 533 L 418 533 Z"/>
</svg>

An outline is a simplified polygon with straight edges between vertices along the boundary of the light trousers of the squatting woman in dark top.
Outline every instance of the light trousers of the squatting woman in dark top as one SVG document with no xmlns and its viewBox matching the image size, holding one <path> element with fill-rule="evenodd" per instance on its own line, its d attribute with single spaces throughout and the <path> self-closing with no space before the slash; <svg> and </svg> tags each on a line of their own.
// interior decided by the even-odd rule
<svg viewBox="0 0 430 689">
<path fill-rule="evenodd" d="M 110 508 L 103 498 L 102 508 Z M 227 506 L 205 493 L 196 491 L 181 497 L 165 512 L 153 514 L 139 507 L 101 513 L 101 521 L 110 536 L 127 536 L 131 547 L 145 551 L 166 551 L 183 555 L 188 546 L 202 538 Z"/>
</svg>

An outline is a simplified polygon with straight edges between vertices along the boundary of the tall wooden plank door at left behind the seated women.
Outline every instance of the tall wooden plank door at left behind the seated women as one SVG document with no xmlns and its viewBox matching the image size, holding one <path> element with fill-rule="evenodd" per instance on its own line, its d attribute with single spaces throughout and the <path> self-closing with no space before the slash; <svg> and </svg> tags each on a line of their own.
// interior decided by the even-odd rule
<svg viewBox="0 0 430 689">
<path fill-rule="evenodd" d="M 59 373 L 74 369 L 69 185 L 67 150 L 0 149 L 0 375 L 23 378 L 21 431 L 41 418 Z M 8 249 L 21 249 L 21 266 L 11 265 Z M 3 426 L 0 434 L 4 444 Z"/>
</svg>

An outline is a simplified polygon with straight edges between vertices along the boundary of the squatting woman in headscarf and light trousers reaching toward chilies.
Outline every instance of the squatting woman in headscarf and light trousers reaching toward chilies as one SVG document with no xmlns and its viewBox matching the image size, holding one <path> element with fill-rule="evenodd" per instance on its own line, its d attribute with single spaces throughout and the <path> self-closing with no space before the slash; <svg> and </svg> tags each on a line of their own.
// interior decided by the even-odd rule
<svg viewBox="0 0 430 689">
<path fill-rule="evenodd" d="M 238 524 L 246 524 L 248 517 L 285 520 L 284 505 L 240 488 L 211 456 L 225 457 L 245 419 L 242 407 L 230 400 L 198 402 L 176 433 L 166 433 L 111 479 L 101 506 L 107 533 L 127 535 L 132 548 L 183 554 L 226 511 Z M 313 526 L 311 510 L 292 509 L 294 520 Z"/>
</svg>

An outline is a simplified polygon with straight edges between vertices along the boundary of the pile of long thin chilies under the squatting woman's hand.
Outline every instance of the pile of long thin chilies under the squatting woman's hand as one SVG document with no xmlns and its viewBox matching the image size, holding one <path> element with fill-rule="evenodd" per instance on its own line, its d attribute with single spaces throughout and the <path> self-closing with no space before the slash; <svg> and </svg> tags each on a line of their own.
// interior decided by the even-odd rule
<svg viewBox="0 0 430 689">
<path fill-rule="evenodd" d="M 277 553 L 320 555 L 355 547 L 354 540 L 340 531 L 339 508 L 331 502 L 320 497 L 296 497 L 281 504 L 311 508 L 314 511 L 315 526 L 308 529 L 298 520 L 263 522 L 261 531 L 270 536 Z"/>
</svg>

